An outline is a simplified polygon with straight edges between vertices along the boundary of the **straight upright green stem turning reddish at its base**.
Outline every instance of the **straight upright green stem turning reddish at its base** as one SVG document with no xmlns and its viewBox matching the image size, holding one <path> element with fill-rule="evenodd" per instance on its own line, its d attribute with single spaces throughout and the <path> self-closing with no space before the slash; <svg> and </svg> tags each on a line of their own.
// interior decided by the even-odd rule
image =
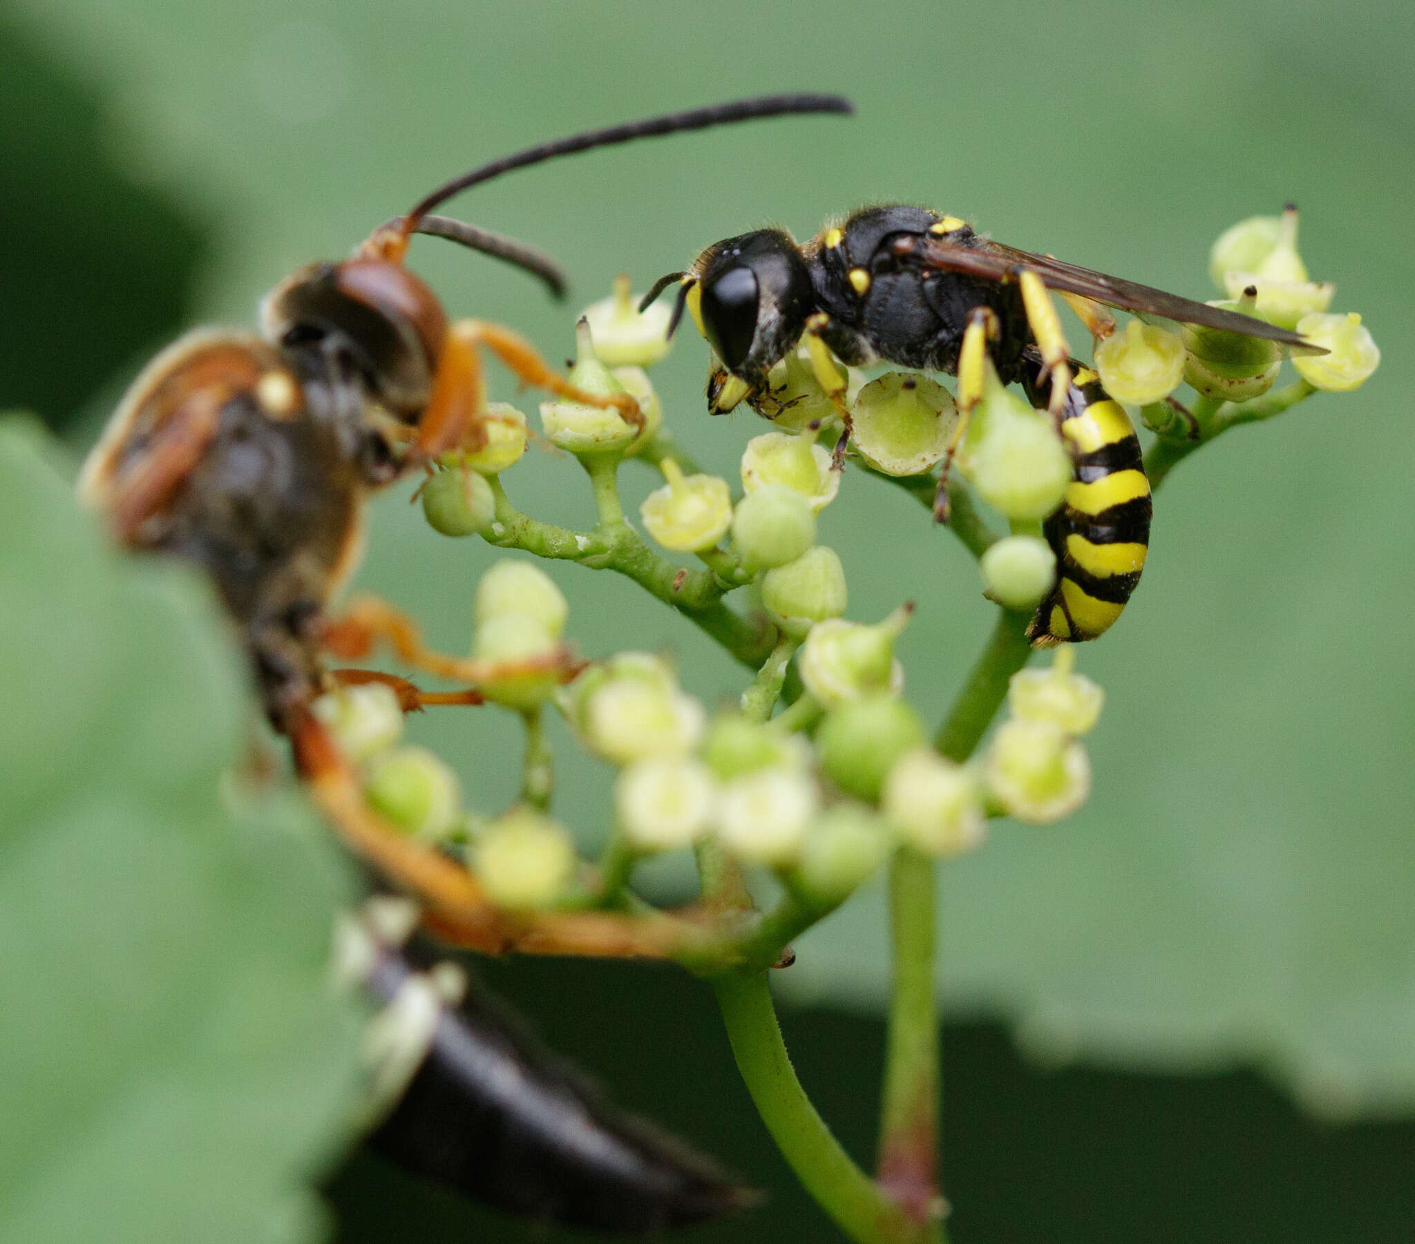
<svg viewBox="0 0 1415 1244">
<path fill-rule="evenodd" d="M 894 988 L 880 1114 L 879 1182 L 913 1217 L 937 1219 L 938 1008 L 934 862 L 901 846 L 890 863 Z"/>
</svg>

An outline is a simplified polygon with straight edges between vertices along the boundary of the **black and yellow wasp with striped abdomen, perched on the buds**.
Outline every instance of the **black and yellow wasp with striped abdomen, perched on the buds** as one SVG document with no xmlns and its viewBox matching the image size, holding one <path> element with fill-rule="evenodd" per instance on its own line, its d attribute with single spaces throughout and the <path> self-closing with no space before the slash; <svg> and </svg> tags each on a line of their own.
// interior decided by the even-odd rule
<svg viewBox="0 0 1415 1244">
<path fill-rule="evenodd" d="M 659 279 L 644 306 L 675 280 L 671 324 L 686 306 L 716 354 L 709 410 L 724 413 L 746 401 L 771 417 L 778 403 L 767 374 L 804 341 L 845 422 L 838 464 L 849 412 L 836 359 L 957 375 L 961 415 L 940 478 L 940 518 L 947 517 L 948 466 L 982 396 L 985 358 L 1003 384 L 1020 382 L 1033 406 L 1050 409 L 1075 474 L 1044 526 L 1058 579 L 1027 631 L 1037 645 L 1092 640 L 1109 628 L 1139 582 L 1150 525 L 1135 429 L 1095 372 L 1071 359 L 1050 292 L 1097 335 L 1114 328 L 1105 307 L 1119 307 L 1317 352 L 1262 320 L 1003 246 L 958 217 L 906 205 L 863 208 L 804 246 L 782 229 L 716 242 L 686 272 Z"/>
</svg>

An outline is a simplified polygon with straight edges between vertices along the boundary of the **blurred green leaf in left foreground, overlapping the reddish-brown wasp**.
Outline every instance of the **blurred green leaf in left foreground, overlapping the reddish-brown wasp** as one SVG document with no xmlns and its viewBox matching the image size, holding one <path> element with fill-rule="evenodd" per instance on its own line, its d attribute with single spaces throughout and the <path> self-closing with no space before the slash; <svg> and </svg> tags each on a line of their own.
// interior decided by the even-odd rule
<svg viewBox="0 0 1415 1244">
<path fill-rule="evenodd" d="M 310 1240 L 357 1088 L 350 877 L 294 797 L 222 807 L 225 623 L 110 552 L 51 453 L 0 423 L 0 1237 Z"/>
</svg>

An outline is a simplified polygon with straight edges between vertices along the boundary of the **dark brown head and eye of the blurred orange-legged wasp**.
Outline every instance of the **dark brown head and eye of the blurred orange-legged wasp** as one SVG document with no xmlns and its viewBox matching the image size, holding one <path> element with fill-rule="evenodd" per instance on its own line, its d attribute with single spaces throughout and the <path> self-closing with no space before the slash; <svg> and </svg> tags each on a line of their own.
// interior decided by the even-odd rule
<svg viewBox="0 0 1415 1244">
<path fill-rule="evenodd" d="M 277 284 L 260 309 L 269 340 L 344 354 L 382 402 L 410 422 L 432 396 L 447 337 L 437 296 L 400 263 L 314 263 Z"/>
</svg>

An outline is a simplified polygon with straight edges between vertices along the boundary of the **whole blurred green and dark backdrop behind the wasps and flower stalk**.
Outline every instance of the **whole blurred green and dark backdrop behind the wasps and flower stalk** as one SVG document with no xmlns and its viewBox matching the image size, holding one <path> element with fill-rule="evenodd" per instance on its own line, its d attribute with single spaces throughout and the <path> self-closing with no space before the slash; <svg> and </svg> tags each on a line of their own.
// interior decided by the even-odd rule
<svg viewBox="0 0 1415 1244">
<path fill-rule="evenodd" d="M 183 327 L 249 323 L 282 275 L 344 253 L 444 175 L 587 125 L 771 89 L 859 105 L 849 122 L 567 160 L 458 201 L 563 259 L 574 306 L 621 269 L 644 287 L 716 238 L 766 221 L 807 236 L 867 200 L 1210 297 L 1218 231 L 1296 200 L 1313 276 L 1365 316 L 1382 369 L 1176 473 L 1145 584 L 1081 654 L 1109 693 L 1091 804 L 1053 829 L 1002 828 L 949 869 L 945 1183 L 962 1244 L 1411 1238 L 1415 8 L 10 0 L 0 16 L 0 406 L 38 409 L 79 449 Z M 413 262 L 456 313 L 570 351 L 570 309 L 524 276 L 437 241 Z M 705 359 L 689 333 L 655 381 L 679 437 L 733 476 L 761 427 L 700 413 Z M 586 524 L 576 474 L 539 454 L 507 483 L 538 517 Z M 628 493 L 649 485 L 634 473 Z M 408 491 L 376 505 L 361 583 L 457 648 L 492 555 L 427 532 Z M 918 601 L 901 655 L 937 715 L 988 627 L 968 559 L 865 478 L 822 538 L 852 616 Z M 556 576 L 586 652 L 671 651 L 709 702 L 740 684 L 627 582 Z M 514 732 L 447 716 L 419 730 L 483 807 L 509 798 Z M 567 759 L 560 810 L 589 843 L 606 808 L 606 774 Z M 787 1036 L 865 1156 L 887 986 L 877 896 L 799 951 Z M 616 965 L 488 975 L 623 1098 L 770 1186 L 766 1210 L 699 1238 L 831 1238 L 703 989 Z M 331 1187 L 348 1241 L 553 1238 L 371 1159 Z"/>
</svg>

